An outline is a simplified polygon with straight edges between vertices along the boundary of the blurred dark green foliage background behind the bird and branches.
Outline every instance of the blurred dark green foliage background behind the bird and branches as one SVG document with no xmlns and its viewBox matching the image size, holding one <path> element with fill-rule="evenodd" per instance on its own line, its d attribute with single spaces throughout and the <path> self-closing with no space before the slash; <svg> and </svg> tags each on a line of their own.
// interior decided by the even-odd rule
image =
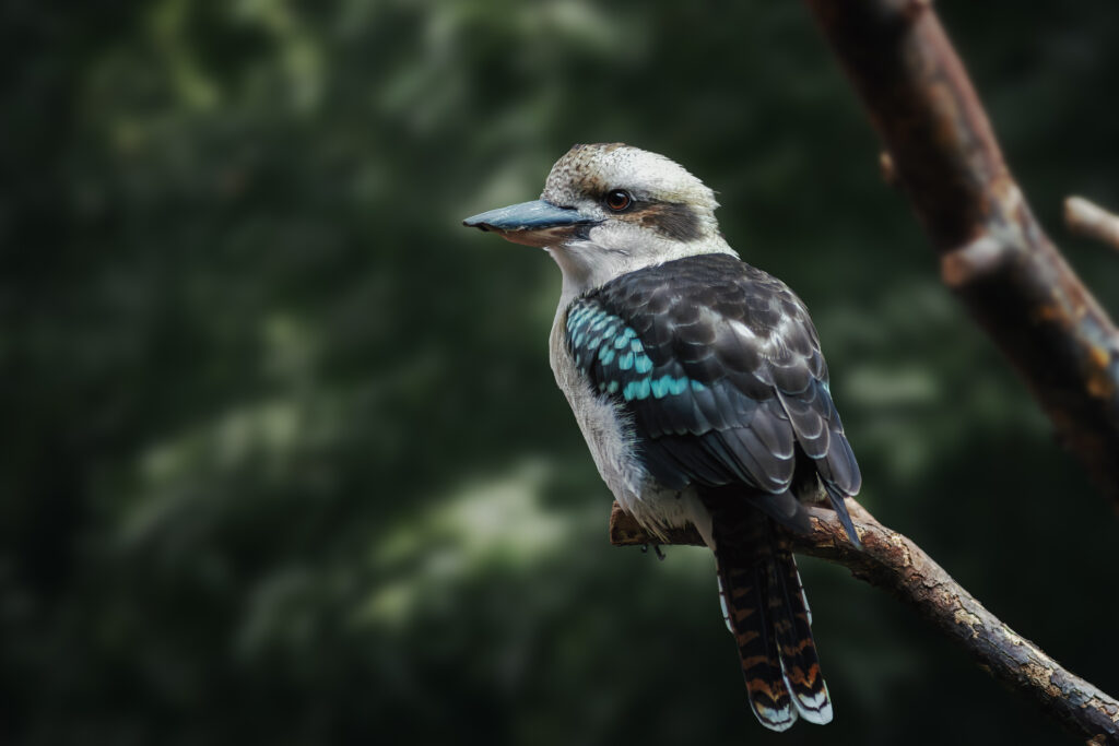
<svg viewBox="0 0 1119 746">
<path fill-rule="evenodd" d="M 1104 305 L 1119 6 L 939 4 Z M 764 731 L 713 563 L 606 544 L 560 273 L 462 217 L 664 152 L 812 309 L 861 499 L 1119 692 L 1110 507 L 941 287 L 796 2 L 11 0 L 0 22 L 0 742 L 1073 743 L 803 559 L 836 708 Z"/>
</svg>

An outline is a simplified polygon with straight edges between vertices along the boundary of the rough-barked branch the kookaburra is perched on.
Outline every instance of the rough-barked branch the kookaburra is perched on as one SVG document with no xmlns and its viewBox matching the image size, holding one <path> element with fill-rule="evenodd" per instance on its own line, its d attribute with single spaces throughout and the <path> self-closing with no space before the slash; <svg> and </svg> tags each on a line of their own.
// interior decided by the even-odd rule
<svg viewBox="0 0 1119 746">
<path fill-rule="evenodd" d="M 835 511 L 810 507 L 811 533 L 792 535 L 794 548 L 843 565 L 855 577 L 885 588 L 913 606 L 963 646 L 991 676 L 1036 701 L 1047 714 L 1085 739 L 1119 744 L 1119 701 L 1061 668 L 1040 648 L 1016 634 L 965 591 L 919 546 L 893 531 L 848 498 L 863 550 L 847 539 Z M 610 542 L 703 545 L 694 528 L 665 539 L 646 532 L 617 502 L 610 516 Z"/>
</svg>

